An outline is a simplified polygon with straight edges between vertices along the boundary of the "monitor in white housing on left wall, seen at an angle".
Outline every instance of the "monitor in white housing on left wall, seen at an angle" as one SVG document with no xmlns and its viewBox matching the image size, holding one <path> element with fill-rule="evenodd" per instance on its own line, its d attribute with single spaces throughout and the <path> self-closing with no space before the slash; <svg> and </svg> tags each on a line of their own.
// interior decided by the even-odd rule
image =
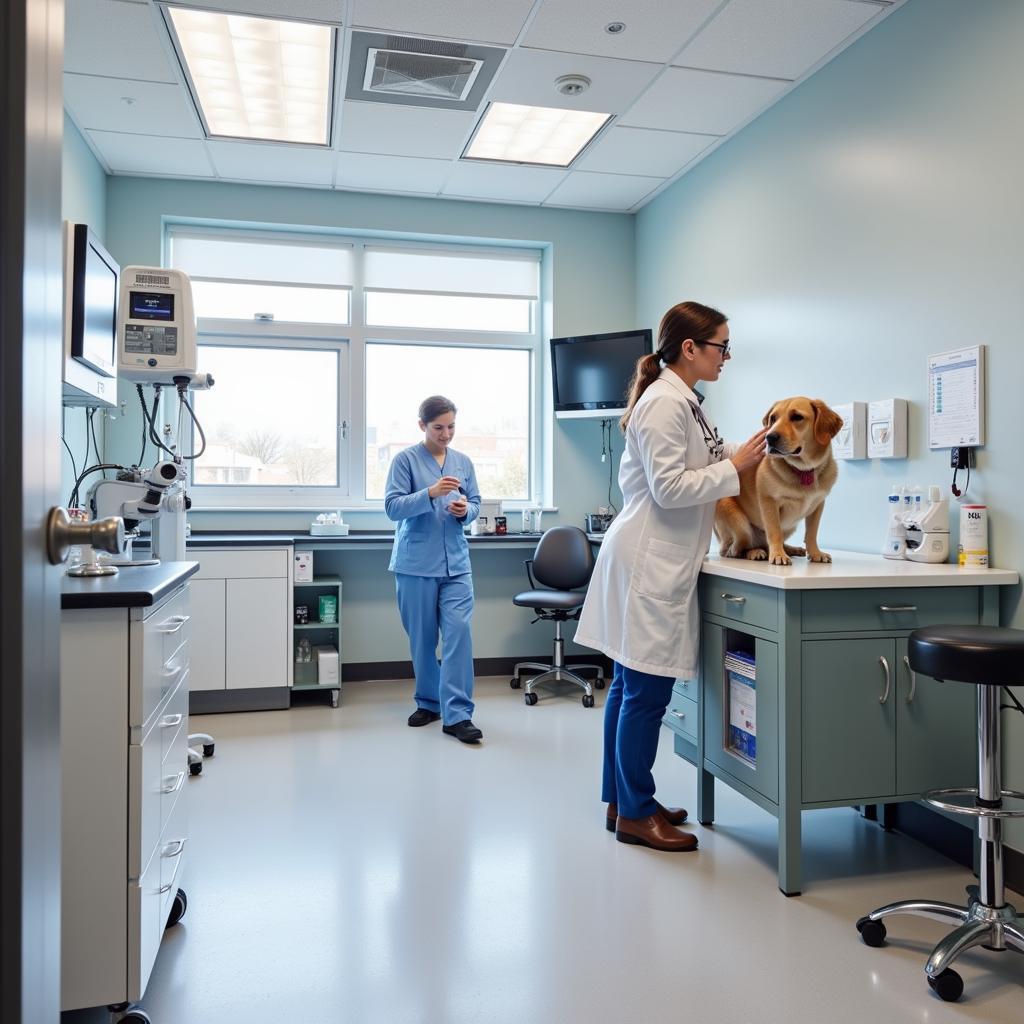
<svg viewBox="0 0 1024 1024">
<path fill-rule="evenodd" d="M 121 268 L 88 224 L 65 225 L 65 403 L 117 401 Z"/>
</svg>

